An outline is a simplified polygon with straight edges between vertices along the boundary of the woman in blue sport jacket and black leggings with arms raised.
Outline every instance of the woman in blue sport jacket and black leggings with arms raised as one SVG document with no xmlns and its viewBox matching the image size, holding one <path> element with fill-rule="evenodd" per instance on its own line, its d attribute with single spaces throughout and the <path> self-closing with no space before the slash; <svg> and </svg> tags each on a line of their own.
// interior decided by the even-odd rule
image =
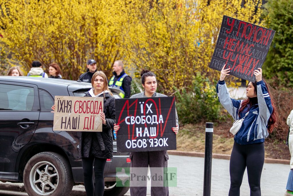
<svg viewBox="0 0 293 196">
<path fill-rule="evenodd" d="M 224 78 L 230 68 L 222 68 L 217 84 L 219 102 L 232 115 L 234 120 L 244 118 L 241 128 L 234 136 L 230 158 L 229 196 L 239 196 L 245 168 L 247 168 L 250 195 L 258 196 L 260 177 L 265 159 L 264 141 L 272 133 L 278 114 L 270 95 L 268 85 L 262 80 L 262 69 L 254 70 L 255 82 L 249 82 L 245 100 L 230 98 Z"/>
</svg>

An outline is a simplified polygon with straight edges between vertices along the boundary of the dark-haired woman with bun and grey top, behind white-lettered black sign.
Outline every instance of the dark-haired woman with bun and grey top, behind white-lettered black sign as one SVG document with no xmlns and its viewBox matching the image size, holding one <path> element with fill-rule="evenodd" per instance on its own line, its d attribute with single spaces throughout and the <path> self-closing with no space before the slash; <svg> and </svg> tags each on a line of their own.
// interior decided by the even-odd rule
<svg viewBox="0 0 293 196">
<path fill-rule="evenodd" d="M 151 72 L 149 70 L 143 70 L 140 73 L 140 76 L 142 77 L 142 86 L 144 88 L 144 92 L 132 95 L 130 98 L 166 97 L 166 95 L 163 95 L 161 93 L 156 93 L 157 81 L 156 81 L 156 75 L 153 72 Z M 119 128 L 120 128 L 119 125 L 114 126 L 114 130 L 116 132 L 117 132 L 117 130 L 119 130 Z M 178 129 L 179 129 L 178 116 L 176 113 L 176 127 L 173 127 L 172 131 L 175 134 L 177 134 Z M 131 160 L 130 167 L 131 168 L 150 167 L 150 170 L 152 173 L 152 171 L 154 171 L 154 170 L 152 170 L 152 167 L 160 167 L 160 168 L 167 167 L 168 159 L 169 159 L 169 155 L 167 153 L 167 150 L 148 151 L 148 152 L 132 152 L 132 153 L 130 153 L 130 160 Z M 147 170 L 143 175 L 147 176 Z M 130 185 L 130 195 L 133 195 L 133 196 L 147 195 L 147 186 L 133 187 Z M 152 186 L 151 187 L 151 195 L 152 196 L 155 196 L 155 195 L 168 196 L 169 195 L 168 186 L 165 186 L 165 187 L 164 186 L 162 186 L 162 187 L 153 187 Z"/>
</svg>

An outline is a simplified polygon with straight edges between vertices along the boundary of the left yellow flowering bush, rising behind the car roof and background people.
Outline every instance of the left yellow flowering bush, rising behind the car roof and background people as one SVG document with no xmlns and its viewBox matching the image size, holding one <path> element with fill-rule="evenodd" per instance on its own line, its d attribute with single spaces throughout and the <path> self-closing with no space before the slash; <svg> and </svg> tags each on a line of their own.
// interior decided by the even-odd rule
<svg viewBox="0 0 293 196">
<path fill-rule="evenodd" d="M 123 58 L 123 26 L 119 9 L 123 1 L 111 0 L 7 0 L 0 2 L 1 45 L 12 59 L 29 71 L 33 60 L 45 69 L 56 62 L 63 78 L 76 80 L 94 58 L 98 70 L 109 75 Z"/>
</svg>

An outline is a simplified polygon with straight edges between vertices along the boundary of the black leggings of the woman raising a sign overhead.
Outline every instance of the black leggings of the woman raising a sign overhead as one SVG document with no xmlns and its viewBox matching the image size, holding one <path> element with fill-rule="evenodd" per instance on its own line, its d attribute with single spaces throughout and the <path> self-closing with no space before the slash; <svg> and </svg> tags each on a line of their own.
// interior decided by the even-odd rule
<svg viewBox="0 0 293 196">
<path fill-rule="evenodd" d="M 239 196 L 240 186 L 247 167 L 251 196 L 260 196 L 260 177 L 265 161 L 264 143 L 240 145 L 234 142 L 230 158 L 229 196 Z"/>
</svg>

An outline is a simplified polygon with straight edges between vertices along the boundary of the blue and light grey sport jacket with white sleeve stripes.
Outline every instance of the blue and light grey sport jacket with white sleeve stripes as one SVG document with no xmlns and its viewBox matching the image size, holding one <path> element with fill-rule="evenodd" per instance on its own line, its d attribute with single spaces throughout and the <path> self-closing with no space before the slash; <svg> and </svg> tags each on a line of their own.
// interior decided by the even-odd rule
<svg viewBox="0 0 293 196">
<path fill-rule="evenodd" d="M 269 135 L 268 120 L 273 111 L 271 98 L 263 81 L 257 82 L 256 85 L 258 104 L 252 106 L 246 105 L 244 110 L 239 113 L 239 108 L 243 100 L 230 98 L 225 81 L 219 81 L 217 84 L 219 102 L 232 115 L 234 120 L 243 118 L 249 111 L 240 130 L 234 136 L 234 141 L 238 144 L 261 143 Z"/>
</svg>

